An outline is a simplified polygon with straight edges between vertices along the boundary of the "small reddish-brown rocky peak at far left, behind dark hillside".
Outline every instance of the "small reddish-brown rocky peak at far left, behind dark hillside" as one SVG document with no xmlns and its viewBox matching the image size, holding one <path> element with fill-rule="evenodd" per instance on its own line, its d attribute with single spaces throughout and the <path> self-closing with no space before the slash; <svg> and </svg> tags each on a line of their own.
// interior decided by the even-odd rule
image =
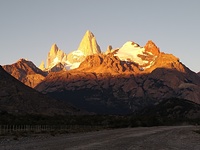
<svg viewBox="0 0 200 150">
<path fill-rule="evenodd" d="M 44 80 L 47 73 L 37 68 L 31 61 L 20 59 L 16 63 L 3 66 L 9 74 L 27 86 L 34 88 Z"/>
</svg>

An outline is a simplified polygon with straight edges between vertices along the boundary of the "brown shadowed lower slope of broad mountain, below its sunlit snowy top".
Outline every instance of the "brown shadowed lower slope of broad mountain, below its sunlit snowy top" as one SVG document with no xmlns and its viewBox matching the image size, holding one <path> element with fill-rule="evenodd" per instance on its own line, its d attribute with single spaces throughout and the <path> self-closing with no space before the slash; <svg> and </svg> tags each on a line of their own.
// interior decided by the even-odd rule
<svg viewBox="0 0 200 150">
<path fill-rule="evenodd" d="M 49 74 L 36 89 L 96 113 L 131 113 L 171 97 L 200 103 L 196 80 L 165 68 L 141 76 L 56 72 Z"/>
</svg>

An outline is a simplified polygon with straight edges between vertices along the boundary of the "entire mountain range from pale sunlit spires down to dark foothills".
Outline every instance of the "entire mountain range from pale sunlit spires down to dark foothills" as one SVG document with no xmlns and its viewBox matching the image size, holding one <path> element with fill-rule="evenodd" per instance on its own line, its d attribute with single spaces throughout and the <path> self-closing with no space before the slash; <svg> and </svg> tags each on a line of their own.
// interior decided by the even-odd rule
<svg viewBox="0 0 200 150">
<path fill-rule="evenodd" d="M 132 114 L 168 102 L 173 103 L 170 109 L 177 110 L 176 115 L 184 109 L 185 116 L 200 117 L 200 76 L 151 40 L 143 47 L 133 41 L 120 48 L 109 45 L 102 52 L 94 34 L 87 31 L 77 50 L 68 54 L 53 44 L 39 67 L 22 58 L 2 68 L 0 111 L 40 113 L 42 108 L 49 112 L 52 108 L 57 114 L 76 114 L 80 110 Z M 15 84 L 6 84 L 8 78 Z M 24 96 L 27 91 L 29 96 Z M 38 97 L 42 95 L 42 105 L 34 92 Z M 32 95 L 35 98 L 30 101 L 27 97 Z M 187 106 L 191 107 L 184 108 Z"/>
</svg>

